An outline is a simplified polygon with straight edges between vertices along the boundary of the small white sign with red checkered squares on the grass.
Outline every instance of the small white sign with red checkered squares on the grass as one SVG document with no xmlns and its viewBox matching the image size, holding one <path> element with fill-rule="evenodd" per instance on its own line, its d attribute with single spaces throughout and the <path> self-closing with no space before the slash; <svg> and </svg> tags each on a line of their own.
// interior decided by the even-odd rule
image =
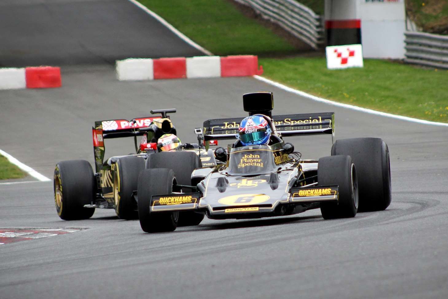
<svg viewBox="0 0 448 299">
<path fill-rule="evenodd" d="M 361 45 L 330 46 L 327 53 L 327 68 L 353 68 L 364 66 Z"/>
</svg>

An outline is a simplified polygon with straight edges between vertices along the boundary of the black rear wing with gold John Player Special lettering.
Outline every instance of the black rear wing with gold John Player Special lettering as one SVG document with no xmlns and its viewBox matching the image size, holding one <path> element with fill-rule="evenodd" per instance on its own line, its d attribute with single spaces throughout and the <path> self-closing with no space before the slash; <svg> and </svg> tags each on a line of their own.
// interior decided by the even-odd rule
<svg viewBox="0 0 448 299">
<path fill-rule="evenodd" d="M 331 134 L 335 141 L 335 113 L 304 113 L 273 115 L 277 133 L 282 137 L 314 134 Z M 244 117 L 204 121 L 204 139 L 235 139 Z"/>
</svg>

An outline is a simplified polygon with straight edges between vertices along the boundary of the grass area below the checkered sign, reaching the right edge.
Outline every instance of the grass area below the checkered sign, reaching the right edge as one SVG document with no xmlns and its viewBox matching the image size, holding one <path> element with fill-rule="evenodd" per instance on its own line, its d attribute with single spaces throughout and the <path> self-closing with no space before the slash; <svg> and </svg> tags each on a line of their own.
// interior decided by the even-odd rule
<svg viewBox="0 0 448 299">
<path fill-rule="evenodd" d="M 387 60 L 328 70 L 325 58 L 260 59 L 264 77 L 360 107 L 448 123 L 448 71 Z"/>
</svg>

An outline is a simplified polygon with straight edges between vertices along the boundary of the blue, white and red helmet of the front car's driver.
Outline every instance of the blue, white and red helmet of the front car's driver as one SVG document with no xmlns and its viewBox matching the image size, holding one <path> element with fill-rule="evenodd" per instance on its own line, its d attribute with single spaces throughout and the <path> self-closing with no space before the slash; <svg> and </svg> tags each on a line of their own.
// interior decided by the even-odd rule
<svg viewBox="0 0 448 299">
<path fill-rule="evenodd" d="M 269 142 L 271 127 L 263 115 L 255 114 L 247 116 L 241 121 L 239 134 L 243 145 L 262 145 Z"/>
</svg>

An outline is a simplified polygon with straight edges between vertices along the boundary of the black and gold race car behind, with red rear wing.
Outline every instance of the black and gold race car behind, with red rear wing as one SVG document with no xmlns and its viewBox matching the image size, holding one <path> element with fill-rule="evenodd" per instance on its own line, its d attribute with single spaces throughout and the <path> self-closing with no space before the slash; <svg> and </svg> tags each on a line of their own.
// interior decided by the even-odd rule
<svg viewBox="0 0 448 299">
<path fill-rule="evenodd" d="M 95 127 L 92 128 L 95 172 L 86 160 L 56 164 L 54 192 L 59 217 L 64 220 L 86 219 L 93 215 L 95 208 L 102 208 L 115 209 L 121 219 L 137 219 L 134 192 L 137 190 L 138 175 L 145 168 L 157 166 L 151 164 L 148 157 L 160 151 L 190 152 L 191 167 L 215 166 L 212 149 L 206 150 L 199 143 L 181 143 L 176 137 L 176 128 L 167 115 L 173 112 L 176 109 L 159 109 L 152 110 L 151 116 L 131 121 L 95 121 Z M 122 137 L 134 137 L 135 153 L 105 159 L 104 140 Z M 139 144 L 137 137 L 141 137 Z M 175 156 L 181 157 L 182 154 Z M 176 158 L 172 162 L 176 162 Z M 178 177 L 182 183 L 181 174 Z M 185 182 L 190 184 L 190 175 Z M 185 225 L 191 222 L 192 217 L 185 218 L 190 219 Z"/>
</svg>

